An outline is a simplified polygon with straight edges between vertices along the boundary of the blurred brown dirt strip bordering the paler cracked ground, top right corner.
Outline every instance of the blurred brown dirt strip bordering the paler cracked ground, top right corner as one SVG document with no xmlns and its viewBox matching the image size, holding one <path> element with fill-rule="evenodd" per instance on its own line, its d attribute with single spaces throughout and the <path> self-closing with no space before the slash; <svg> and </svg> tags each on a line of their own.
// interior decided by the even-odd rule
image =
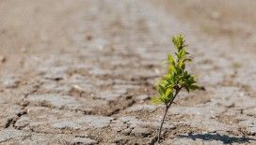
<svg viewBox="0 0 256 145">
<path fill-rule="evenodd" d="M 163 0 L 153 1 L 164 6 L 179 20 L 192 25 L 192 31 L 200 30 L 209 37 L 225 38 L 244 51 L 255 48 L 256 2 L 252 0 Z M 198 29 L 197 29 L 198 28 Z M 249 46 L 248 46 L 249 45 Z"/>
</svg>

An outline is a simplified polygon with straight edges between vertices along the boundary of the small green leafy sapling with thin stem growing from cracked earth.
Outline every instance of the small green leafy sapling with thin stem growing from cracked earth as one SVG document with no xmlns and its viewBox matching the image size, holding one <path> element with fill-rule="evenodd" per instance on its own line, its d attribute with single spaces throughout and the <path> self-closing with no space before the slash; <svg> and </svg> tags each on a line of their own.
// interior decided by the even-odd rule
<svg viewBox="0 0 256 145">
<path fill-rule="evenodd" d="M 184 44 L 184 36 L 173 36 L 172 43 L 175 47 L 175 54 L 168 53 L 168 64 L 167 74 L 164 75 L 156 84 L 156 90 L 158 96 L 152 97 L 154 104 L 164 104 L 165 114 L 158 131 L 157 141 L 160 143 L 161 131 L 169 107 L 173 103 L 175 97 L 180 93 L 182 89 L 185 89 L 187 93 L 190 90 L 197 90 L 200 87 L 196 84 L 195 77 L 191 76 L 185 69 L 187 62 L 191 59 L 188 57 L 189 53 L 185 50 L 186 45 Z"/>
</svg>

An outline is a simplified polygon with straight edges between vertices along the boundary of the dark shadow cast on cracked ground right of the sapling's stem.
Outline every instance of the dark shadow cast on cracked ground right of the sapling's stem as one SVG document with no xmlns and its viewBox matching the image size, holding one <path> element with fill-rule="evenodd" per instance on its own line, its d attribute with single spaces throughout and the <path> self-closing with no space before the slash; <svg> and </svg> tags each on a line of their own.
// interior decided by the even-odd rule
<svg viewBox="0 0 256 145">
<path fill-rule="evenodd" d="M 219 135 L 219 134 L 195 134 L 195 135 L 179 135 L 179 138 L 191 138 L 193 140 L 202 139 L 202 140 L 217 140 L 222 141 L 224 144 L 232 144 L 232 143 L 246 143 L 251 140 L 256 140 L 255 138 L 247 138 L 247 137 L 230 137 L 227 135 Z"/>
</svg>

